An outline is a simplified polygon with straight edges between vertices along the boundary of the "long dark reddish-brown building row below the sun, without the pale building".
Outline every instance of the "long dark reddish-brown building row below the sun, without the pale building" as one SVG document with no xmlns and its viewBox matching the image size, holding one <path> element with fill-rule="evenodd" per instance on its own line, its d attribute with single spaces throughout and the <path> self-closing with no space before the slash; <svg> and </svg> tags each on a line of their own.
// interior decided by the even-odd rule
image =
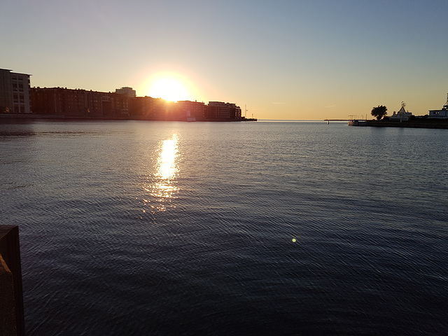
<svg viewBox="0 0 448 336">
<path fill-rule="evenodd" d="M 122 90 L 125 89 L 125 90 Z M 116 92 L 64 87 L 31 87 L 34 114 L 79 118 L 134 118 L 179 121 L 241 120 L 241 109 L 225 102 L 167 102 L 153 97 L 134 97 L 132 87 Z"/>
</svg>

